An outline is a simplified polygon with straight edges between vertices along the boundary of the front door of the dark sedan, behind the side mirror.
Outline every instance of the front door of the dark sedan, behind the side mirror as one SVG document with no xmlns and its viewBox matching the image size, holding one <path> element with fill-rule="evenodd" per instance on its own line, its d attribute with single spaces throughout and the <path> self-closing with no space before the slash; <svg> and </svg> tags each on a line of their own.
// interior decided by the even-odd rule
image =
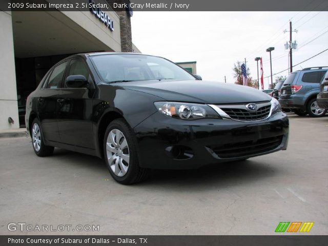
<svg viewBox="0 0 328 246">
<path fill-rule="evenodd" d="M 83 75 L 88 79 L 88 88 L 68 88 L 65 81 L 70 75 Z M 58 128 L 60 142 L 94 149 L 92 130 L 93 81 L 85 61 L 81 58 L 70 60 L 64 79 L 63 89 L 58 96 Z"/>
</svg>

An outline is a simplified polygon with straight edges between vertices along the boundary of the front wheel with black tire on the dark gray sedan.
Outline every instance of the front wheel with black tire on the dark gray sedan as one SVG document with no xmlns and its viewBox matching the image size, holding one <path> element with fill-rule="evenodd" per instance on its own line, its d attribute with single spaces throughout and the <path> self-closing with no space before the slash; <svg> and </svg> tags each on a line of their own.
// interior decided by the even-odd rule
<svg viewBox="0 0 328 246">
<path fill-rule="evenodd" d="M 104 158 L 111 176 L 123 185 L 145 180 L 149 169 L 140 168 L 137 141 L 127 122 L 113 120 L 104 137 Z"/>
</svg>

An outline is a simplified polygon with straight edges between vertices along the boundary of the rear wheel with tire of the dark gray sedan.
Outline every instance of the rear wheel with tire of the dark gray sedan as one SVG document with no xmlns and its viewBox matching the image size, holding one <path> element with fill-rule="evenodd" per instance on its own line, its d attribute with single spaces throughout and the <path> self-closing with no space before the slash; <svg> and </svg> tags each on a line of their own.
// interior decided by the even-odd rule
<svg viewBox="0 0 328 246">
<path fill-rule="evenodd" d="M 32 122 L 31 138 L 33 150 L 37 156 L 43 157 L 52 155 L 55 148 L 45 145 L 40 121 L 37 118 L 35 118 Z"/>
</svg>

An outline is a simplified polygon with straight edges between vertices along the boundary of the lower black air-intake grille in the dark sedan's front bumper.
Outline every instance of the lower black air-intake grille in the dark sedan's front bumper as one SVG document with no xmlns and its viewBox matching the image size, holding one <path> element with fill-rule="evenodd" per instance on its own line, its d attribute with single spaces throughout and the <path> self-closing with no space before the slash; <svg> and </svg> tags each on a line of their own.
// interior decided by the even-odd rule
<svg viewBox="0 0 328 246">
<path fill-rule="evenodd" d="M 219 158 L 234 158 L 274 150 L 281 144 L 282 137 L 283 136 L 281 135 L 207 147 L 211 149 Z"/>
</svg>

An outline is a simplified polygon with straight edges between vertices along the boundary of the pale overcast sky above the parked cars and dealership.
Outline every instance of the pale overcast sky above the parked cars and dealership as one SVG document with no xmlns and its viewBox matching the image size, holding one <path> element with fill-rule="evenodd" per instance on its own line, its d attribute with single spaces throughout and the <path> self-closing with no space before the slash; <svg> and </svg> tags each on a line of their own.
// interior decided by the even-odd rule
<svg viewBox="0 0 328 246">
<path fill-rule="evenodd" d="M 253 79 L 257 79 L 255 57 L 263 59 L 264 89 L 272 73 L 289 68 L 289 20 L 292 20 L 293 65 L 328 49 L 328 12 L 146 12 L 131 17 L 132 42 L 144 54 L 158 55 L 174 62 L 197 61 L 197 74 L 203 80 L 234 83 L 236 61 L 247 60 Z M 310 42 L 310 43 L 309 43 Z M 293 68 L 328 66 L 328 51 Z M 274 75 L 288 75 L 288 71 Z"/>
</svg>

